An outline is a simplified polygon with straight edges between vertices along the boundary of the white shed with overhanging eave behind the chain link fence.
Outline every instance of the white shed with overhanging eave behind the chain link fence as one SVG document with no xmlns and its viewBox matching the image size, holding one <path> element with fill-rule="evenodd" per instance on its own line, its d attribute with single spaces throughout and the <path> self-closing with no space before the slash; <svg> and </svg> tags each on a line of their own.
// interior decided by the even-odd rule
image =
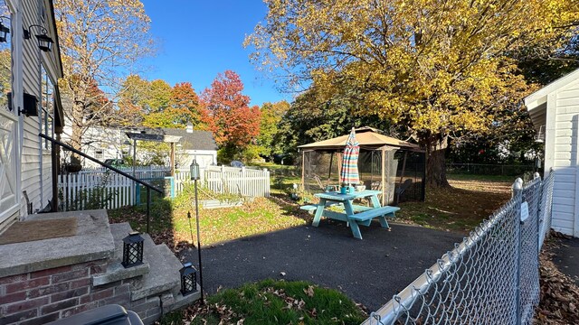
<svg viewBox="0 0 579 325">
<path fill-rule="evenodd" d="M 545 174 L 555 171 L 552 228 L 579 237 L 579 70 L 529 95 L 525 105 L 545 140 Z"/>
</svg>

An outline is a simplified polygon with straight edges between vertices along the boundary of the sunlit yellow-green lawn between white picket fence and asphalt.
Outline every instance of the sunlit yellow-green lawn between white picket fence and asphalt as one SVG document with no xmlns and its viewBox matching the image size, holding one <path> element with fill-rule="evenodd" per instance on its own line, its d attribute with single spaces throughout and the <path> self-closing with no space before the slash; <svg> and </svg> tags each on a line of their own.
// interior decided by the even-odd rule
<svg viewBox="0 0 579 325">
<path fill-rule="evenodd" d="M 174 250 L 196 243 L 195 205 L 193 190 L 186 189 L 174 200 L 156 199 L 151 205 L 150 235 Z M 245 200 L 241 207 L 199 209 L 202 246 L 259 235 L 310 222 L 311 216 L 299 205 L 286 200 L 287 196 Z M 222 200 L 225 200 L 222 198 Z M 228 198 L 227 200 L 239 200 Z M 189 219 L 188 216 L 192 218 Z M 127 207 L 109 210 L 111 222 L 128 221 L 131 228 L 146 231 L 146 207 Z M 193 241 L 192 241 L 193 237 Z"/>
</svg>

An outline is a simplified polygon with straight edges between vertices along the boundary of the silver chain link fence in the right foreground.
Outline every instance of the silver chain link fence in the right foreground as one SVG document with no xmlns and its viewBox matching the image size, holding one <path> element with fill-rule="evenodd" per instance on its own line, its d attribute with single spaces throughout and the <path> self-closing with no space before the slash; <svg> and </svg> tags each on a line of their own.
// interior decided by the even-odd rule
<svg viewBox="0 0 579 325">
<path fill-rule="evenodd" d="M 363 324 L 531 324 L 554 172 L 513 198 Z"/>
</svg>

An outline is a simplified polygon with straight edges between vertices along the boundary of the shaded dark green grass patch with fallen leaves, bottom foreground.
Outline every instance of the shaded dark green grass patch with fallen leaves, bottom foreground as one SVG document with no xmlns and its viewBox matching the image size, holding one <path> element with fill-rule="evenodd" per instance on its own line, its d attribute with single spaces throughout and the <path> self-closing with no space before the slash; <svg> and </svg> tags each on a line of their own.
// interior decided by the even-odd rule
<svg viewBox="0 0 579 325">
<path fill-rule="evenodd" d="M 176 324 L 359 324 L 365 312 L 341 292 L 307 282 L 264 280 L 227 289 L 160 323 Z"/>
</svg>

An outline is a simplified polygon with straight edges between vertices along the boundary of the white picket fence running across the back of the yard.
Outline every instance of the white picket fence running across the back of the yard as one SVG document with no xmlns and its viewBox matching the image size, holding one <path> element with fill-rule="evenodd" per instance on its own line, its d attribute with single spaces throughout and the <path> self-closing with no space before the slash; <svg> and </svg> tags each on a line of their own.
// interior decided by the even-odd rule
<svg viewBox="0 0 579 325">
<path fill-rule="evenodd" d="M 133 174 L 132 167 L 119 170 Z M 162 166 L 138 167 L 135 175 L 140 180 L 163 179 L 169 170 Z M 246 197 L 270 196 L 270 172 L 266 169 L 210 166 L 201 170 L 201 185 L 216 193 L 234 193 Z M 189 170 L 176 171 L 174 190 L 178 195 L 186 183 L 190 183 Z M 105 168 L 83 169 L 78 173 L 59 175 L 59 209 L 63 211 L 95 209 L 118 209 L 135 204 L 136 186 L 133 181 Z M 100 203 L 100 204 L 99 204 Z"/>
</svg>

